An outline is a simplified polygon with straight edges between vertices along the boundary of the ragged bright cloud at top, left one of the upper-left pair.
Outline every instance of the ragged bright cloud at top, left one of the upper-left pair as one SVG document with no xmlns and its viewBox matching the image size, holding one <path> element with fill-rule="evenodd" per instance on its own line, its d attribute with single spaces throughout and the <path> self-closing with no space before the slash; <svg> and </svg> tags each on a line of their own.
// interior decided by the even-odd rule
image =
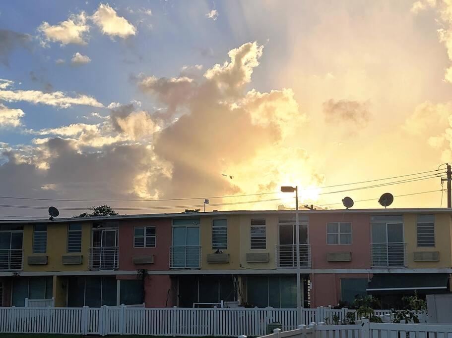
<svg viewBox="0 0 452 338">
<path fill-rule="evenodd" d="M 53 26 L 44 21 L 38 27 L 38 31 L 42 34 L 41 43 L 44 46 L 48 42 L 60 42 L 62 46 L 68 44 L 86 45 L 86 35 L 89 32 L 89 25 L 86 21 L 85 12 L 80 12 L 78 15 L 71 14 L 66 21 Z"/>
</svg>

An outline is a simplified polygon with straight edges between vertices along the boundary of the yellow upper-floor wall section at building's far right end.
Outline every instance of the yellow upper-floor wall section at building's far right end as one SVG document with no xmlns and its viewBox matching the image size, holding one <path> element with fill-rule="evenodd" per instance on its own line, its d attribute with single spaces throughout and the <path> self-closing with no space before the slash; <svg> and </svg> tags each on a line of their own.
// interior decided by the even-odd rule
<svg viewBox="0 0 452 338">
<path fill-rule="evenodd" d="M 407 267 L 415 268 L 450 268 L 451 257 L 451 216 L 441 213 L 435 214 L 435 247 L 417 246 L 417 214 L 403 215 L 404 237 L 406 242 Z M 438 262 L 415 262 L 414 251 L 439 251 Z"/>
</svg>

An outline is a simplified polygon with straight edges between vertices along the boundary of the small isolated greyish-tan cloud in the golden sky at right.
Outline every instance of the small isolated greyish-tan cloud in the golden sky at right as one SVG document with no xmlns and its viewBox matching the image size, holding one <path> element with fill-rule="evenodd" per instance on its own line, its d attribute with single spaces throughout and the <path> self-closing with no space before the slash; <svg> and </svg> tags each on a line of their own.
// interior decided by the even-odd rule
<svg viewBox="0 0 452 338">
<path fill-rule="evenodd" d="M 323 114 L 328 123 L 354 123 L 359 127 L 367 126 L 370 112 L 367 102 L 352 100 L 329 100 L 323 102 Z"/>
</svg>

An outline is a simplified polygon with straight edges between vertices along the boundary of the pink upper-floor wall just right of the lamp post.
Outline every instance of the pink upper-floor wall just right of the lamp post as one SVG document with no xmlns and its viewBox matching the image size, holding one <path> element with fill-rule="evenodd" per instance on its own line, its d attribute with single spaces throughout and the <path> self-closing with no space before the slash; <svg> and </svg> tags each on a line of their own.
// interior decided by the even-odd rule
<svg viewBox="0 0 452 338">
<path fill-rule="evenodd" d="M 370 268 L 370 216 L 347 211 L 309 216 L 309 242 L 313 269 Z M 326 223 L 351 222 L 352 244 L 326 244 Z M 327 252 L 351 252 L 351 262 L 327 262 Z"/>
</svg>

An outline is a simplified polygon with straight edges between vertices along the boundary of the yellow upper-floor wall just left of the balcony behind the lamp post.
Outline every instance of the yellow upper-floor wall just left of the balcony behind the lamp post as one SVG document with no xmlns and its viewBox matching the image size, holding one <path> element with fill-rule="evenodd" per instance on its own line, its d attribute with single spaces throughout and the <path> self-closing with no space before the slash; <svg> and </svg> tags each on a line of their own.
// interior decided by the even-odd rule
<svg viewBox="0 0 452 338">
<path fill-rule="evenodd" d="M 275 264 L 275 245 L 277 241 L 277 215 L 241 215 L 237 216 L 240 226 L 240 261 L 243 268 L 251 269 L 274 269 Z M 265 249 L 251 249 L 251 219 L 252 218 L 265 218 L 266 227 L 266 248 Z M 268 263 L 247 263 L 247 253 L 256 252 L 263 253 L 268 252 L 270 254 L 270 261 Z"/>
</svg>

